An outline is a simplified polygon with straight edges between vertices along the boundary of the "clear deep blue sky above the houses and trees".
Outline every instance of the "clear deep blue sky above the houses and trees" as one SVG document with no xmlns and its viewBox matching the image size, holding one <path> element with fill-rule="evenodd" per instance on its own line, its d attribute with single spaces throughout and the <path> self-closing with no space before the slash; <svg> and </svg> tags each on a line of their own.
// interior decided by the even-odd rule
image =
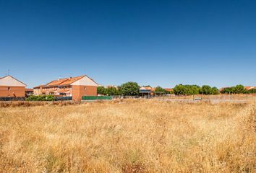
<svg viewBox="0 0 256 173">
<path fill-rule="evenodd" d="M 0 76 L 27 86 L 256 85 L 256 1 L 0 0 Z"/>
</svg>

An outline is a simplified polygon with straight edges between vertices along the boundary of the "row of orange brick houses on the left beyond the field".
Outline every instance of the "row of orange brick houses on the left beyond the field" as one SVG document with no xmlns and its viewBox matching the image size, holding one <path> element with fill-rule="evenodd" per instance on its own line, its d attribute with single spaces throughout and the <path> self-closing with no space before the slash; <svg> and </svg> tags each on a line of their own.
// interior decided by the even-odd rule
<svg viewBox="0 0 256 173">
<path fill-rule="evenodd" d="M 26 84 L 13 76 L 0 78 L 0 97 L 25 97 L 31 94 L 32 89 L 25 89 Z M 35 86 L 33 94 L 43 95 L 52 94 L 56 97 L 68 96 L 74 101 L 80 101 L 82 96 L 97 96 L 98 84 L 90 77 L 83 75 L 56 79 L 47 84 Z"/>
</svg>

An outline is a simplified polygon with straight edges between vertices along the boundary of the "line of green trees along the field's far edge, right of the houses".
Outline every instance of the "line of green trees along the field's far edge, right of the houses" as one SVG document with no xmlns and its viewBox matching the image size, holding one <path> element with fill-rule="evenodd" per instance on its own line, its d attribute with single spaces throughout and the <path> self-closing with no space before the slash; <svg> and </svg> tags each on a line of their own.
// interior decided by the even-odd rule
<svg viewBox="0 0 256 173">
<path fill-rule="evenodd" d="M 98 86 L 98 94 L 103 95 L 127 95 L 127 96 L 137 96 L 140 93 L 140 86 L 137 82 L 129 81 L 121 86 L 110 86 L 105 88 L 104 86 Z M 236 86 L 227 87 L 221 90 L 221 94 L 252 94 L 256 93 L 256 89 L 244 89 L 241 84 Z M 174 87 L 173 91 L 166 91 L 161 86 L 155 88 L 155 94 L 176 94 L 176 95 L 196 95 L 196 94 L 220 94 L 219 90 L 215 86 L 209 85 L 184 85 L 178 84 Z"/>
</svg>

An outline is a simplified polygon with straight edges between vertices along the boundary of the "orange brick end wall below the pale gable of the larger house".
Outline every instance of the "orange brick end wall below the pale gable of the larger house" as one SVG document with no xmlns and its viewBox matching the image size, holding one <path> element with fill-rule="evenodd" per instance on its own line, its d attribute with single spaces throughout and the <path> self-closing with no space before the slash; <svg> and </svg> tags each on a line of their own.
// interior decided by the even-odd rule
<svg viewBox="0 0 256 173">
<path fill-rule="evenodd" d="M 97 86 L 72 86 L 72 99 L 80 101 L 82 96 L 97 96 Z"/>
</svg>

